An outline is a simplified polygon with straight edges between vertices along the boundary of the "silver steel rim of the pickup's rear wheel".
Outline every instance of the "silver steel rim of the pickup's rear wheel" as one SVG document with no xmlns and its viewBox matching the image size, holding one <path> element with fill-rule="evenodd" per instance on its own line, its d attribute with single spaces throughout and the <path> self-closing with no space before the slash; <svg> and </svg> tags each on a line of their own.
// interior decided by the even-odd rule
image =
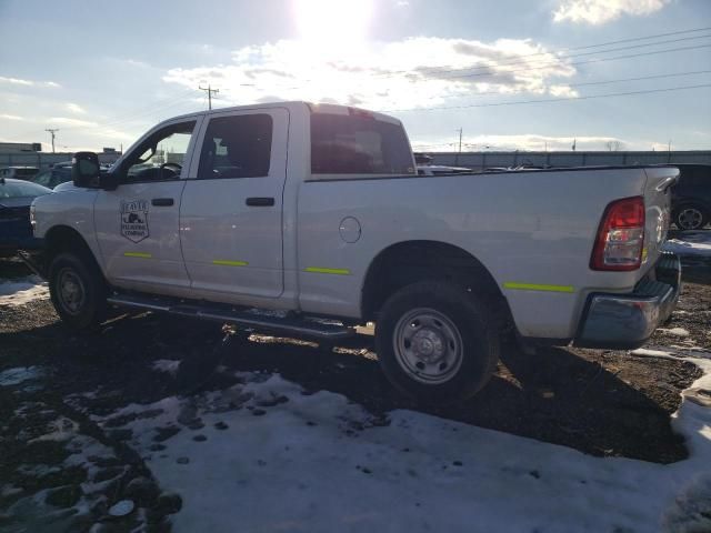
<svg viewBox="0 0 711 533">
<path fill-rule="evenodd" d="M 405 313 L 395 324 L 392 342 L 400 368 L 420 383 L 445 383 L 462 365 L 462 336 L 454 323 L 434 309 Z"/>
</svg>

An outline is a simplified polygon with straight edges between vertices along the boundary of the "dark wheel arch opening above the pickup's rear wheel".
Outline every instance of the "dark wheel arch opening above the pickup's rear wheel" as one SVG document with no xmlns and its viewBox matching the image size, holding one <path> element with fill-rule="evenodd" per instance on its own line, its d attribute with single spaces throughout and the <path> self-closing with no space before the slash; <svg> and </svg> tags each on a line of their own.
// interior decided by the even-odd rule
<svg viewBox="0 0 711 533">
<path fill-rule="evenodd" d="M 373 320 L 385 300 L 403 286 L 421 281 L 450 281 L 498 303 L 502 320 L 510 318 L 505 298 L 489 270 L 470 252 L 441 241 L 401 241 L 371 261 L 361 292 L 361 316 Z"/>
</svg>

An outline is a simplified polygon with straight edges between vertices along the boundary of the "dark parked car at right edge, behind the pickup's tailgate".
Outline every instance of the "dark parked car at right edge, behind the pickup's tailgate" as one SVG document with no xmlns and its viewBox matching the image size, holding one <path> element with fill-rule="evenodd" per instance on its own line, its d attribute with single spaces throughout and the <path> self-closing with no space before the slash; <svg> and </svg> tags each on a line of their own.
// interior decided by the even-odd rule
<svg viewBox="0 0 711 533">
<path fill-rule="evenodd" d="M 672 220 L 680 230 L 700 230 L 711 222 L 711 164 L 674 164 L 681 171 L 672 189 Z"/>
</svg>

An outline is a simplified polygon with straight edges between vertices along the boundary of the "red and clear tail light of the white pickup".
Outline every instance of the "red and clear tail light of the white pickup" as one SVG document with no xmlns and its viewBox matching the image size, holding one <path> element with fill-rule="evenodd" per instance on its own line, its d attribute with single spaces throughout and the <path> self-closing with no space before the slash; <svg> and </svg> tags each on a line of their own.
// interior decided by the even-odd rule
<svg viewBox="0 0 711 533">
<path fill-rule="evenodd" d="M 608 205 L 592 250 L 592 270 L 637 270 L 644 248 L 644 199 L 624 198 Z"/>
</svg>

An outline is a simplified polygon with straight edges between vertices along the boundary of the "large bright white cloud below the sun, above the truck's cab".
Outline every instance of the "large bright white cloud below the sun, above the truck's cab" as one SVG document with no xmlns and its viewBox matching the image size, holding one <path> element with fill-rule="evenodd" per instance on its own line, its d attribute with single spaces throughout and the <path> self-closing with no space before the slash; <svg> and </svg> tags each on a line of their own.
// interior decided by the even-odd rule
<svg viewBox="0 0 711 533">
<path fill-rule="evenodd" d="M 481 93 L 574 95 L 573 67 L 530 40 L 411 38 L 357 50 L 282 40 L 236 50 L 232 63 L 176 68 L 163 80 L 211 83 L 217 105 L 264 100 L 339 102 L 370 109 L 442 104 Z"/>
</svg>

